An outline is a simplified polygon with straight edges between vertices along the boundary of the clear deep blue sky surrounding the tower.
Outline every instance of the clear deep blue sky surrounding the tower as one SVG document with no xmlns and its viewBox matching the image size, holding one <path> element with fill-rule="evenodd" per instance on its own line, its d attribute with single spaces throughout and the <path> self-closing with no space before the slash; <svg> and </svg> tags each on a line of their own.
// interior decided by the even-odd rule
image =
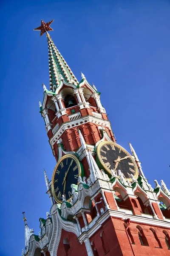
<svg viewBox="0 0 170 256">
<path fill-rule="evenodd" d="M 50 35 L 77 79 L 82 70 L 102 93 L 117 143 L 130 141 L 149 183 L 170 189 L 170 1 L 3 0 L 0 19 L 0 256 L 21 254 L 23 211 L 38 234 L 51 207 L 43 168 L 51 179 L 56 163 L 38 104 L 48 46 L 33 31 L 41 19 L 54 19 Z"/>
</svg>

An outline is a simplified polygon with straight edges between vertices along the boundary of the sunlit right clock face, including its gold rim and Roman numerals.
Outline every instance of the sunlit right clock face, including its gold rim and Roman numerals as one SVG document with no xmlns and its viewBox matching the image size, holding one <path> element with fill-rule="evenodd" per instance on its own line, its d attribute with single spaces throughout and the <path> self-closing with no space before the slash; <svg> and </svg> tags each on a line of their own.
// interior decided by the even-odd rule
<svg viewBox="0 0 170 256">
<path fill-rule="evenodd" d="M 126 179 L 131 179 L 130 174 L 138 177 L 138 167 L 131 155 L 120 145 L 104 141 L 98 145 L 97 156 L 105 168 L 111 174 L 111 169 L 116 175 L 118 170 L 122 172 Z"/>
</svg>

